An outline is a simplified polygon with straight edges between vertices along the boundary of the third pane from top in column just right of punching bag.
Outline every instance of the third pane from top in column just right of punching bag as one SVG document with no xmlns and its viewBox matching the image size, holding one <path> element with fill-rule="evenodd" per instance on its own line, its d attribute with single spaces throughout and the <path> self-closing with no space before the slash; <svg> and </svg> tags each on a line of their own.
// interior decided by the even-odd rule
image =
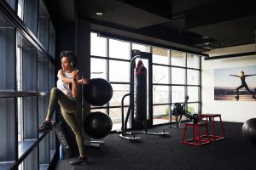
<svg viewBox="0 0 256 170">
<path fill-rule="evenodd" d="M 153 103 L 166 104 L 169 101 L 169 87 L 168 86 L 153 86 Z"/>
</svg>

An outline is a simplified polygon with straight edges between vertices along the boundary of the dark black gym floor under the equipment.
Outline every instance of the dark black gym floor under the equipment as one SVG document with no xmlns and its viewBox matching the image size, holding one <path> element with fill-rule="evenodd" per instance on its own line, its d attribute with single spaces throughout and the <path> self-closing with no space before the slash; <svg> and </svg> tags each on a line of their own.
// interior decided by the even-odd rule
<svg viewBox="0 0 256 170">
<path fill-rule="evenodd" d="M 227 138 L 204 146 L 182 144 L 183 129 L 163 128 L 170 137 L 139 134 L 142 141 L 131 143 L 119 138 L 118 133 L 108 135 L 100 148 L 87 148 L 90 164 L 71 166 L 70 160 L 59 161 L 57 170 L 255 170 L 256 144 L 241 135 L 241 123 L 224 122 Z"/>
</svg>

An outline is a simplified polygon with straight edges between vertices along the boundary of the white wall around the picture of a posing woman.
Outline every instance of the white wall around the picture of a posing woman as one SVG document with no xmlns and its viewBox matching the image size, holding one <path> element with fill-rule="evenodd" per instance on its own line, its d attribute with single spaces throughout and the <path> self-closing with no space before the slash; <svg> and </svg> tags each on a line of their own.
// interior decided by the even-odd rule
<svg viewBox="0 0 256 170">
<path fill-rule="evenodd" d="M 256 51 L 255 44 L 236 46 L 232 48 L 214 49 L 207 54 L 210 56 L 223 54 L 239 54 Z M 220 113 L 223 121 L 245 122 L 256 117 L 256 101 L 226 101 L 214 100 L 213 70 L 218 68 L 242 67 L 256 65 L 256 55 L 236 57 L 231 59 L 202 58 L 202 113 Z M 256 71 L 255 71 L 256 73 Z M 256 81 L 256 77 L 255 81 Z"/>
</svg>

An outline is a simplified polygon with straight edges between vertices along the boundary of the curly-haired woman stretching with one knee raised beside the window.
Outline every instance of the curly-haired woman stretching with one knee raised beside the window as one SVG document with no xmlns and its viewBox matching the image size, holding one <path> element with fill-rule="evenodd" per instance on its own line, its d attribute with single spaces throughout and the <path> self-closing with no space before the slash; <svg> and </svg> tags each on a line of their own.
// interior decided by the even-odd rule
<svg viewBox="0 0 256 170">
<path fill-rule="evenodd" d="M 45 132 L 52 129 L 51 119 L 55 111 L 55 105 L 58 103 L 61 106 L 61 114 L 67 124 L 75 133 L 77 143 L 79 145 L 79 157 L 70 161 L 71 164 L 83 164 L 87 162 L 87 157 L 84 153 L 84 140 L 76 122 L 74 112 L 76 111 L 76 99 L 79 96 L 78 85 L 86 84 L 88 81 L 79 79 L 79 70 L 73 70 L 76 65 L 75 56 L 72 51 L 61 52 L 61 67 L 58 71 L 57 88 L 52 88 L 49 97 L 49 108 L 45 121 L 38 128 L 39 132 Z"/>
</svg>

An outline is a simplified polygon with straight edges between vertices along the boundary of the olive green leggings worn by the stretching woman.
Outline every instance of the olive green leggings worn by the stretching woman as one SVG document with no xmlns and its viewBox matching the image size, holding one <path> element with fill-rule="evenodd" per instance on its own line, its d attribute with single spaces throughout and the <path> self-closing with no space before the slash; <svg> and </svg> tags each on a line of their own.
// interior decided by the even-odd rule
<svg viewBox="0 0 256 170">
<path fill-rule="evenodd" d="M 76 111 L 76 101 L 69 99 L 66 94 L 63 94 L 60 89 L 52 88 L 49 97 L 49 108 L 47 118 L 51 120 L 55 111 L 55 105 L 57 102 L 61 105 L 61 113 L 67 124 L 72 128 L 75 133 L 77 143 L 79 145 L 80 156 L 85 156 L 84 153 L 84 140 L 82 132 L 76 121 L 74 112 Z"/>
</svg>

